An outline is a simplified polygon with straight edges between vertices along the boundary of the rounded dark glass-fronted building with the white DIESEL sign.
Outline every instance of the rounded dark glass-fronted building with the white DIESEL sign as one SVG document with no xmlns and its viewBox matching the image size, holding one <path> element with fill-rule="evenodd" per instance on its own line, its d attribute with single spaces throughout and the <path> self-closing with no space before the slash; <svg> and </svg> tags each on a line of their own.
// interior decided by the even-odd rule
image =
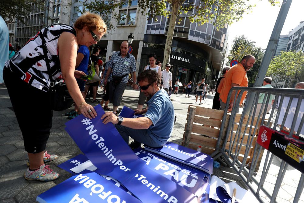
<svg viewBox="0 0 304 203">
<path fill-rule="evenodd" d="M 199 0 L 188 2 L 195 5 L 199 3 Z M 169 3 L 166 8 L 167 11 L 171 11 Z M 214 9 L 217 8 L 213 7 L 211 12 L 215 14 Z M 175 23 L 170 59 L 173 82 L 177 78 L 182 83 L 190 80 L 197 82 L 205 77 L 206 82 L 213 86 L 222 68 L 223 57 L 226 55 L 228 25 L 216 30 L 211 23 L 203 25 L 191 23 L 189 16 L 192 12 L 193 10 L 182 13 Z M 157 60 L 166 63 L 162 61 L 162 57 L 170 20 L 170 15 L 169 18 L 156 16 L 147 20 L 142 59 L 148 60 L 147 55 L 154 52 L 160 56 Z M 187 59 L 188 62 L 178 60 L 179 58 Z M 141 63 L 140 67 L 143 67 L 144 63 Z"/>
</svg>

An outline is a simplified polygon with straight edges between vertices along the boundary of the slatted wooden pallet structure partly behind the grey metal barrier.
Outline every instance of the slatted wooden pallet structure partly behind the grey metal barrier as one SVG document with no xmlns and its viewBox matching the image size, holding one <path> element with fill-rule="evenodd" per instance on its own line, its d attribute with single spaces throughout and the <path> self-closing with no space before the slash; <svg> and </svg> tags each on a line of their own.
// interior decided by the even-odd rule
<svg viewBox="0 0 304 203">
<path fill-rule="evenodd" d="M 220 142 L 220 148 L 222 148 L 223 140 L 218 141 L 218 137 L 223 115 L 224 111 L 222 110 L 189 105 L 182 145 L 195 150 L 198 148 L 198 146 L 202 146 L 202 152 L 208 155 L 212 154 L 216 150 L 217 142 Z M 258 120 L 258 117 L 254 117 L 253 123 L 251 123 L 252 117 L 250 117 L 250 120 L 247 125 L 248 118 L 249 116 L 245 115 L 242 124 L 240 124 L 241 114 L 236 114 L 233 125 L 232 139 L 230 131 L 228 134 L 228 140 L 226 142 L 225 149 L 229 148 L 230 142 L 233 141 L 235 138 L 235 144 L 232 147 L 231 154 L 236 153 L 236 141 L 239 135 L 239 133 L 237 133 L 237 129 L 240 128 L 240 142 L 237 146 L 237 153 L 239 152 L 238 160 L 240 160 L 241 162 L 244 159 L 245 147 L 247 145 L 248 139 L 254 139 L 249 149 L 248 156 L 246 157 L 246 164 L 250 165 L 250 163 L 252 162 L 254 148 L 256 147 L 256 139 L 259 127 L 261 125 L 261 119 Z M 227 126 L 230 119 L 232 119 L 232 117 L 231 114 L 228 113 L 224 124 L 223 135 L 226 135 Z M 251 125 L 252 130 L 250 131 Z M 257 126 L 257 129 L 254 131 L 255 126 Z M 261 152 L 261 154 L 262 153 L 263 152 Z M 256 170 L 260 166 L 261 158 L 262 156 L 259 156 Z"/>
</svg>

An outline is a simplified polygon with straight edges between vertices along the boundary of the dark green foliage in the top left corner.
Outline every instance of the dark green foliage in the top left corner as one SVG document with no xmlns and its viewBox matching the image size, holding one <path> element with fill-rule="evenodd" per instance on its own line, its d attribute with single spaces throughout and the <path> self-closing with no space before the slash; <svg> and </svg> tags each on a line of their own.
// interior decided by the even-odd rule
<svg viewBox="0 0 304 203">
<path fill-rule="evenodd" d="M 26 16 L 31 11 L 31 3 L 35 3 L 43 10 L 44 0 L 4 0 L 0 3 L 0 15 L 4 20 L 9 19 L 13 22 L 16 18 L 23 22 L 22 16 Z"/>
</svg>

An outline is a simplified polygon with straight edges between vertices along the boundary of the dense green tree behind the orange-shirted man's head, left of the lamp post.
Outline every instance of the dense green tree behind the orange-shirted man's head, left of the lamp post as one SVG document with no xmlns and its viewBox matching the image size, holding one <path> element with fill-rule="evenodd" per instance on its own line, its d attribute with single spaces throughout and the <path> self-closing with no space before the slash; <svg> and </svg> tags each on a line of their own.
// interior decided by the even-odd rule
<svg viewBox="0 0 304 203">
<path fill-rule="evenodd" d="M 256 47 L 254 44 L 250 44 L 250 40 L 242 35 L 234 38 L 230 54 L 232 54 L 234 59 L 237 59 L 239 62 L 247 54 L 251 54 L 255 57 L 254 66 L 247 72 L 249 83 L 254 83 L 264 57 L 264 52 L 261 47 Z M 230 62 L 233 60 L 233 57 L 229 56 L 228 58 L 229 60 L 226 65 L 230 66 Z"/>
</svg>

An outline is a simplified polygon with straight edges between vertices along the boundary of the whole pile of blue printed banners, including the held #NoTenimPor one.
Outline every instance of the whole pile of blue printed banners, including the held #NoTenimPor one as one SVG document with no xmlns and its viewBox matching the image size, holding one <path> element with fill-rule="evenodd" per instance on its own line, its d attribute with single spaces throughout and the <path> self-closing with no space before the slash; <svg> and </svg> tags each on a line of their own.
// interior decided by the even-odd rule
<svg viewBox="0 0 304 203">
<path fill-rule="evenodd" d="M 102 123 L 102 107 L 95 110 L 95 119 L 80 115 L 66 123 L 66 131 L 85 154 L 59 165 L 74 176 L 37 201 L 209 202 L 212 169 L 206 164 L 207 173 L 142 148 L 134 153 L 112 123 Z"/>
</svg>

